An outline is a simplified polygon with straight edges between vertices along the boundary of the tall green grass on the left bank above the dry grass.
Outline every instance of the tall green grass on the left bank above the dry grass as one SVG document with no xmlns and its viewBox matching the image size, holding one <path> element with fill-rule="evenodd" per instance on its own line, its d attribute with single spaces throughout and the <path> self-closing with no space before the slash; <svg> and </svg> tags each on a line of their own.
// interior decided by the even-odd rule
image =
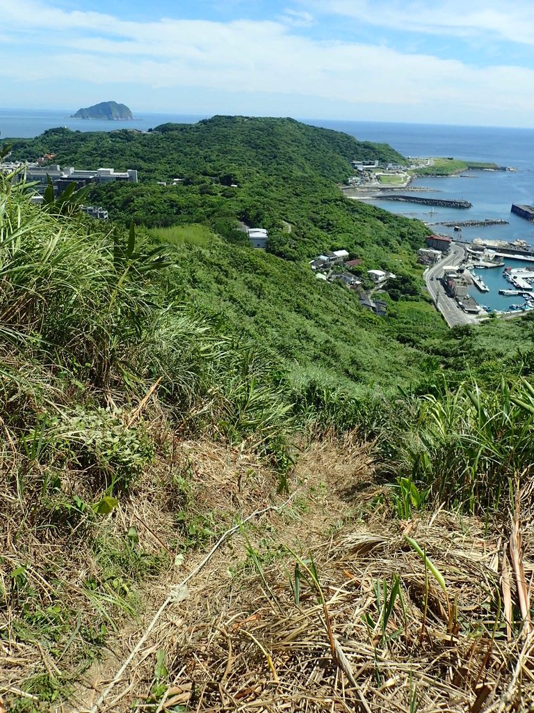
<svg viewBox="0 0 534 713">
<path fill-rule="evenodd" d="M 278 451 L 290 430 L 279 365 L 167 293 L 159 273 L 174 265 L 164 245 L 39 209 L 12 178 L 0 183 L 0 418 L 16 431 L 8 440 L 41 429 L 43 414 L 56 419 L 73 399 L 98 407 L 112 392 L 120 408 L 161 379 L 160 403 L 179 428 L 265 453 L 273 441 Z M 196 245 L 211 236 L 202 226 L 173 231 L 166 239 Z M 54 427 L 51 438 L 63 432 Z"/>
</svg>

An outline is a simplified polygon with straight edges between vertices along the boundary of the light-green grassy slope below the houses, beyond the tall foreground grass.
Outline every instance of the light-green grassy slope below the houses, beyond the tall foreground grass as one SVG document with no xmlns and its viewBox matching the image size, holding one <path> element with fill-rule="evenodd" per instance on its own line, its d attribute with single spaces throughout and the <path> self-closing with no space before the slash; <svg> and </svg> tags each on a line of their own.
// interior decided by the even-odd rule
<svg viewBox="0 0 534 713">
<path fill-rule="evenodd" d="M 315 279 L 305 262 L 231 246 L 215 235 L 199 246 L 198 230 L 191 242 L 184 241 L 187 228 L 155 232 L 167 244 L 179 243 L 172 252 L 178 267 L 168 279 L 182 299 L 194 300 L 225 329 L 246 334 L 286 364 L 393 387 L 416 380 L 425 358 L 395 341 L 405 320 L 412 322 L 414 339 L 424 339 L 428 329 L 445 332 L 427 302 L 390 302 L 389 316 L 376 317 L 360 308 L 357 293 Z"/>
</svg>

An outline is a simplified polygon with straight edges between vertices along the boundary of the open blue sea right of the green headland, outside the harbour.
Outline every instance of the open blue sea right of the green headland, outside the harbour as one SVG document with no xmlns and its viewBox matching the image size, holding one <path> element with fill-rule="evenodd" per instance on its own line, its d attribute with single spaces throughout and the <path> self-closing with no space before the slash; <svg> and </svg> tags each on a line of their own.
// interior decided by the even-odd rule
<svg viewBox="0 0 534 713">
<path fill-rule="evenodd" d="M 464 198 L 473 203 L 468 210 L 426 205 L 373 201 L 407 217 L 425 222 L 484 220 L 501 218 L 510 225 L 471 227 L 462 231 L 464 240 L 483 237 L 490 240 L 522 239 L 534 244 L 534 225 L 510 212 L 512 203 L 534 204 L 534 130 L 433 124 L 368 122 L 313 122 L 350 133 L 360 140 L 389 143 L 405 156 L 454 156 L 518 168 L 517 172 L 470 171 L 471 178 L 418 178 L 412 187 L 431 188 L 428 198 Z M 436 231 L 454 235 L 452 228 L 436 226 Z M 457 237 L 457 235 L 456 235 Z"/>
</svg>

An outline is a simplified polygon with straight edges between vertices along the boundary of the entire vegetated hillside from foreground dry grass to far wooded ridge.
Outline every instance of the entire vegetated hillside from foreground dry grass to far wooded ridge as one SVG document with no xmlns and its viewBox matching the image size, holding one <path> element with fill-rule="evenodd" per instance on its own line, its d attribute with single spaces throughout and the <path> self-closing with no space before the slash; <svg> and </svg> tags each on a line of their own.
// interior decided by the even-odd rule
<svg viewBox="0 0 534 713">
<path fill-rule="evenodd" d="M 0 711 L 530 712 L 534 315 L 447 329 L 426 228 L 316 131 L 16 143 L 152 173 L 116 221 L 0 176 Z M 335 247 L 396 273 L 384 317 Z"/>
</svg>

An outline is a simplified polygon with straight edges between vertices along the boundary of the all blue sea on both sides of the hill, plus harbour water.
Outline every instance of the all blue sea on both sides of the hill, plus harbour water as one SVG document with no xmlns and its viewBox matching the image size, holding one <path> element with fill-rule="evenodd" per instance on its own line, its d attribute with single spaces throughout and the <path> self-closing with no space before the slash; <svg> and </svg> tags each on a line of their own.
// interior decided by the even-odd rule
<svg viewBox="0 0 534 713">
<path fill-rule="evenodd" d="M 147 130 L 169 121 L 194 123 L 206 116 L 172 113 L 137 112 L 134 121 L 95 121 L 70 118 L 72 110 L 15 110 L 0 109 L 0 137 L 29 138 L 43 133 L 48 128 L 67 126 L 80 131 L 112 131 L 117 128 Z M 534 129 L 491 128 L 476 126 L 452 126 L 434 124 L 407 124 L 369 121 L 332 121 L 301 119 L 315 126 L 343 131 L 362 141 L 389 143 L 405 156 L 454 156 L 466 160 L 478 160 L 513 166 L 514 172 L 469 172 L 471 178 L 418 178 L 412 187 L 430 188 L 426 197 L 461 198 L 473 204 L 468 210 L 453 208 L 372 201 L 377 205 L 406 217 L 417 217 L 428 223 L 456 220 L 484 220 L 500 218 L 508 225 L 464 228 L 462 240 L 475 237 L 496 240 L 526 240 L 534 245 L 534 225 L 510 212 L 511 204 L 534 204 Z M 433 226 L 434 227 L 434 226 Z M 436 232 L 458 237 L 452 228 L 436 225 Z M 513 262 L 515 267 L 520 263 Z M 491 292 L 480 297 L 481 302 L 494 309 L 503 309 L 509 299 L 497 294 L 499 287 L 509 287 L 496 270 L 483 271 L 483 279 L 492 283 Z"/>
</svg>

